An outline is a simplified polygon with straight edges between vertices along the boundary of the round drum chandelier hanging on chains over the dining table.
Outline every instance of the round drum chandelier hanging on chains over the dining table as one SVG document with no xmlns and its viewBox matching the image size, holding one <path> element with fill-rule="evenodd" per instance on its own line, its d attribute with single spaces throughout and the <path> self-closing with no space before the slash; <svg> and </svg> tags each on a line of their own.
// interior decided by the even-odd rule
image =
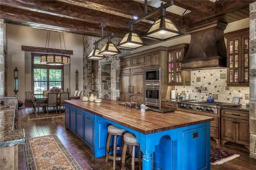
<svg viewBox="0 0 256 170">
<path fill-rule="evenodd" d="M 60 36 L 60 32 L 59 32 Z M 66 50 L 66 45 L 65 45 L 65 40 L 64 40 L 64 35 L 62 32 L 63 36 L 63 41 L 64 41 L 64 47 Z M 60 39 L 60 50 L 61 54 L 55 54 L 55 53 L 46 53 L 46 45 L 48 43 L 49 48 L 49 40 L 50 40 L 50 31 L 47 32 L 47 38 L 46 38 L 46 44 L 45 44 L 45 54 L 40 55 L 40 63 L 42 64 L 47 64 L 47 65 L 67 65 L 70 64 L 70 56 L 69 55 L 63 55 L 62 54 L 62 46 L 61 46 L 61 39 Z"/>
</svg>

